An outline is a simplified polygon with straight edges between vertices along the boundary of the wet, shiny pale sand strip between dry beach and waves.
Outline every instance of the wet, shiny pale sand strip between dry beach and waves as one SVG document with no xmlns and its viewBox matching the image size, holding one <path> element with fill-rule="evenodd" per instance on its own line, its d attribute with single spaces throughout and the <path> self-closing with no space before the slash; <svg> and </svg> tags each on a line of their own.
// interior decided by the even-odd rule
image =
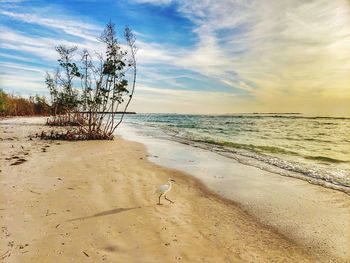
<svg viewBox="0 0 350 263">
<path fill-rule="evenodd" d="M 350 259 L 347 193 L 168 137 L 150 138 L 127 125 L 119 131 L 123 138 L 145 144 L 152 162 L 194 176 L 294 242 Z"/>
</svg>

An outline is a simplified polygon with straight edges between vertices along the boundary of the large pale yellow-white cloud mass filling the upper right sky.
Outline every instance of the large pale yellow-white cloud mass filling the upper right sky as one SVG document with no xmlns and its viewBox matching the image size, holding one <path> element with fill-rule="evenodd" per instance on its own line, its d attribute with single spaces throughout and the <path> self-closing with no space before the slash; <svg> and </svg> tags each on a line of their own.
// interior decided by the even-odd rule
<svg viewBox="0 0 350 263">
<path fill-rule="evenodd" d="M 199 37 L 179 65 L 244 89 L 271 110 L 295 99 L 350 99 L 348 1 L 177 3 Z"/>
</svg>

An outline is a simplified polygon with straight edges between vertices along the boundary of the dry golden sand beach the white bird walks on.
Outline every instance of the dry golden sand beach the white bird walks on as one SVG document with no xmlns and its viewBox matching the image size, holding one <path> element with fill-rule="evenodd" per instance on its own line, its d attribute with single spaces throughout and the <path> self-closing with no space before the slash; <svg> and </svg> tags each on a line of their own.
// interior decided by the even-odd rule
<svg viewBox="0 0 350 263">
<path fill-rule="evenodd" d="M 140 143 L 30 140 L 46 129 L 42 119 L 20 123 L 0 123 L 0 261 L 350 261 L 350 240 L 338 255 L 300 244 L 198 179 L 150 162 Z M 169 177 L 175 203 L 159 206 L 153 192 Z M 339 199 L 332 205 L 350 209 L 346 194 L 329 191 Z"/>
</svg>

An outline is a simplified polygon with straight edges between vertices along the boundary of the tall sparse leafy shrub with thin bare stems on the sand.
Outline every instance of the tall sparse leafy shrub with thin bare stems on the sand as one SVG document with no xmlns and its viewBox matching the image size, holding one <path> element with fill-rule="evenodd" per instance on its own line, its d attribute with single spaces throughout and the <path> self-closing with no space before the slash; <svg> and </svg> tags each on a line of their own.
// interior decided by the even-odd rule
<svg viewBox="0 0 350 263">
<path fill-rule="evenodd" d="M 83 50 L 76 59 L 77 47 L 56 47 L 59 68 L 45 79 L 54 113 L 48 125 L 75 127 L 69 127 L 66 135 L 51 133 L 44 138 L 113 139 L 136 85 L 136 38 L 129 27 L 124 38 L 121 44 L 115 25 L 109 22 L 99 38 L 104 53 Z"/>
</svg>

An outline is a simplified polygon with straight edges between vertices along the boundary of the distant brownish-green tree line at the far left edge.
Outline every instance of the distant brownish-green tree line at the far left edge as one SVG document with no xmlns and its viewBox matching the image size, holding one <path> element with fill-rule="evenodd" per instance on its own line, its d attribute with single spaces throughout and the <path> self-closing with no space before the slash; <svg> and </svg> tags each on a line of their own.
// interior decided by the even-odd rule
<svg viewBox="0 0 350 263">
<path fill-rule="evenodd" d="M 0 89 L 0 116 L 49 115 L 51 106 L 44 96 L 31 96 L 28 99 L 7 94 Z"/>
</svg>

